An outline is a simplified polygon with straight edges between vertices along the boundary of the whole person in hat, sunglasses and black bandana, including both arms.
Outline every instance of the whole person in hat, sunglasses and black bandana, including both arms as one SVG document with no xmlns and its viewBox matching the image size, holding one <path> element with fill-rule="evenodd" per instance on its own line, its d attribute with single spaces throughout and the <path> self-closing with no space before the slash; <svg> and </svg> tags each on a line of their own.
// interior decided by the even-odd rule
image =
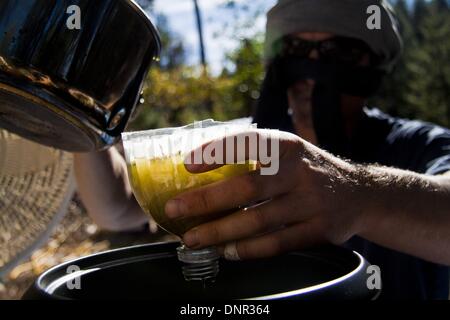
<svg viewBox="0 0 450 320">
<path fill-rule="evenodd" d="M 380 8 L 381 29 L 367 27 L 371 5 Z M 184 243 L 217 245 L 232 260 L 342 245 L 380 268 L 380 299 L 448 299 L 450 131 L 366 106 L 401 51 L 383 0 L 279 0 L 268 13 L 267 72 L 253 117 L 260 137 L 280 142 L 279 172 L 250 173 L 168 201 L 172 219 L 259 203 L 188 231 Z M 75 169 L 100 225 L 142 223 L 115 149 L 76 155 Z M 111 183 L 96 185 L 105 180 Z"/>
</svg>

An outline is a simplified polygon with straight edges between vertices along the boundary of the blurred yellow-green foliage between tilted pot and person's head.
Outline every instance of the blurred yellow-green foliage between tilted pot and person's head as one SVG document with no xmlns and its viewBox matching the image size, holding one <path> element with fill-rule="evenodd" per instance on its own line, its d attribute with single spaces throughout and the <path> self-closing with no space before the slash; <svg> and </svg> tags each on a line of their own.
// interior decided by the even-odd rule
<svg viewBox="0 0 450 320">
<path fill-rule="evenodd" d="M 249 116 L 259 98 L 264 74 L 261 36 L 242 40 L 227 55 L 219 76 L 178 65 L 153 68 L 144 89 L 145 103 L 132 122 L 134 130 L 178 126 L 205 118 Z"/>
</svg>

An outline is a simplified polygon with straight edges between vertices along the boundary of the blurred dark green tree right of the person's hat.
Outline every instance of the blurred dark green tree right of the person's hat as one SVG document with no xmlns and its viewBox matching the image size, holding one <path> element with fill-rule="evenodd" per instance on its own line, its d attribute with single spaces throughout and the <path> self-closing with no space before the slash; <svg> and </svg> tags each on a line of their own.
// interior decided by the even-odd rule
<svg viewBox="0 0 450 320">
<path fill-rule="evenodd" d="M 447 3 L 445 3 L 447 2 Z M 404 52 L 371 104 L 395 116 L 450 126 L 450 11 L 448 1 L 395 4 Z"/>
</svg>

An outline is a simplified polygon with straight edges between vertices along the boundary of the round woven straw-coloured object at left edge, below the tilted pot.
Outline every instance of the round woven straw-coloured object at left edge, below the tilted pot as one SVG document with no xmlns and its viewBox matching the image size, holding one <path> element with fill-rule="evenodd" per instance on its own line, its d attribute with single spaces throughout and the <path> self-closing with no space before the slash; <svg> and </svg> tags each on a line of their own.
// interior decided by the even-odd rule
<svg viewBox="0 0 450 320">
<path fill-rule="evenodd" d="M 0 129 L 0 277 L 43 245 L 74 192 L 72 155 Z"/>
</svg>

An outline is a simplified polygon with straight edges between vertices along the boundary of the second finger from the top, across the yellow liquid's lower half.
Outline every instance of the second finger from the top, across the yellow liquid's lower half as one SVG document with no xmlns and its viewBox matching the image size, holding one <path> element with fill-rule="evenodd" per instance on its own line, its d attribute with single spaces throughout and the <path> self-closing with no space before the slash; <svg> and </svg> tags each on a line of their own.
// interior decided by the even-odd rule
<svg viewBox="0 0 450 320">
<path fill-rule="evenodd" d="M 277 176 L 253 171 L 177 195 L 166 203 L 165 212 L 175 219 L 238 209 L 288 192 L 298 183 L 292 175 L 289 167 Z"/>
</svg>

